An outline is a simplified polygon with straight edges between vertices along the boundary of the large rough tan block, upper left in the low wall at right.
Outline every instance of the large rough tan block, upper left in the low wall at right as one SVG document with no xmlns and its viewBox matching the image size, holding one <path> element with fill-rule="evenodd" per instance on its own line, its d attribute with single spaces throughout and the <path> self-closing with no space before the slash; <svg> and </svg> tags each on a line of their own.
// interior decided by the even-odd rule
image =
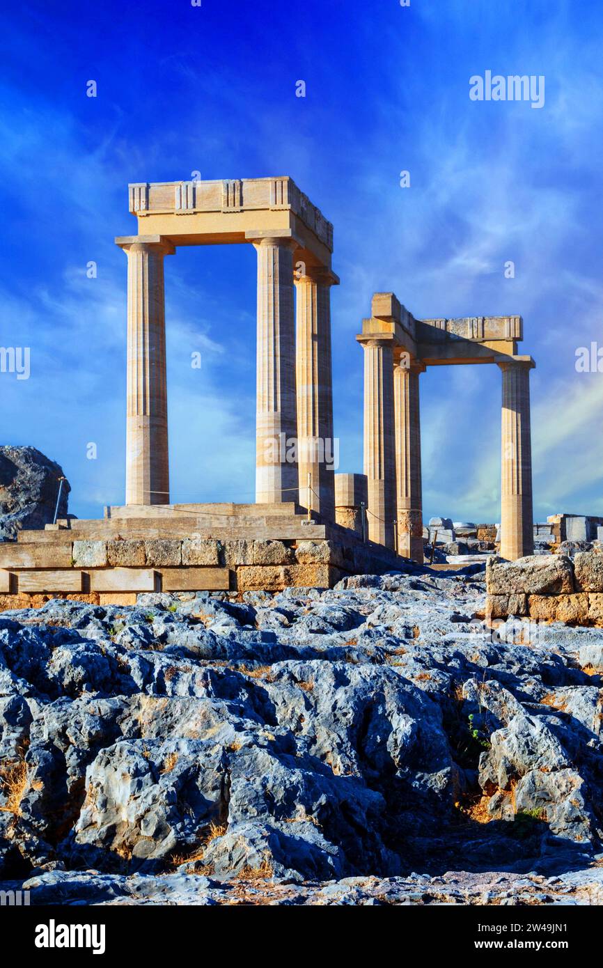
<svg viewBox="0 0 603 968">
<path fill-rule="evenodd" d="M 493 557 L 486 566 L 486 586 L 489 594 L 570 594 L 574 590 L 572 562 L 562 555 L 515 561 Z"/>
</svg>

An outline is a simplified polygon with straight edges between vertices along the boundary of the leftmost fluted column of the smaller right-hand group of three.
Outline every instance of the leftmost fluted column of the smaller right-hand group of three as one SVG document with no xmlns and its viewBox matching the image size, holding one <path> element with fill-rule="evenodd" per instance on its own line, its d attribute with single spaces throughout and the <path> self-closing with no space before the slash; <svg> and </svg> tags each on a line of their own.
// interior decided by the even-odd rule
<svg viewBox="0 0 603 968">
<path fill-rule="evenodd" d="M 394 547 L 396 464 L 394 359 L 390 334 L 357 337 L 364 348 L 364 472 L 369 538 Z"/>
</svg>

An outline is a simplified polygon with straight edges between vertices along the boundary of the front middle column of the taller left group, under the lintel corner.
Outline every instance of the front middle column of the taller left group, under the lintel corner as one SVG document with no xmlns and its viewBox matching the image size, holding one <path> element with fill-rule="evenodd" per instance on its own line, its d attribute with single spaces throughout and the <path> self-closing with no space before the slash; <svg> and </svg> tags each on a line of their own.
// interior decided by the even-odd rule
<svg viewBox="0 0 603 968">
<path fill-rule="evenodd" d="M 263 238 L 257 252 L 256 501 L 298 500 L 295 314 L 290 238 Z"/>
</svg>

